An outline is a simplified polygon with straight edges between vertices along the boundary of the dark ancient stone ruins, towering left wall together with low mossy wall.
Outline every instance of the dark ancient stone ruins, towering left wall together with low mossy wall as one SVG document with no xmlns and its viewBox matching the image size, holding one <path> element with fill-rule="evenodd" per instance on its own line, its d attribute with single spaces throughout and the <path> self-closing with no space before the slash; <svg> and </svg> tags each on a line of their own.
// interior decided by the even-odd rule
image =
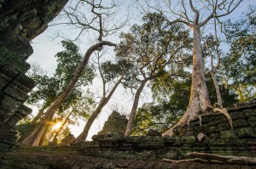
<svg viewBox="0 0 256 169">
<path fill-rule="evenodd" d="M 202 116 L 172 137 L 104 135 L 92 142 L 47 147 L 16 145 L 14 127 L 31 113 L 23 103 L 35 86 L 25 73 L 30 41 L 42 33 L 67 0 L 0 1 L 0 46 L 20 61 L 0 62 L 0 168 L 255 168 L 256 103 Z M 20 66 L 21 65 L 21 66 Z M 157 135 L 157 134 L 155 134 Z M 195 153 L 196 152 L 196 153 Z M 217 155 L 217 156 L 216 156 Z M 224 155 L 222 157 L 218 155 Z M 236 159 L 236 156 L 244 156 Z M 178 161 L 180 160 L 180 161 Z"/>
</svg>

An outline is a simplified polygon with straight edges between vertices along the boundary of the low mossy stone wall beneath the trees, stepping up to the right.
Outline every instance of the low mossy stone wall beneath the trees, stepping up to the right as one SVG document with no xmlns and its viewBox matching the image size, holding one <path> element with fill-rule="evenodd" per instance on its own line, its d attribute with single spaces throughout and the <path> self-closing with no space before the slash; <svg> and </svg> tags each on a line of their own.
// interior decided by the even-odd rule
<svg viewBox="0 0 256 169">
<path fill-rule="evenodd" d="M 51 168 L 58 166 L 55 161 L 63 161 L 61 164 L 69 165 L 67 168 L 184 168 L 188 165 L 206 168 L 210 161 L 184 165 L 170 164 L 162 160 L 188 159 L 188 153 L 191 152 L 256 157 L 256 103 L 230 109 L 229 113 L 234 129 L 230 129 L 230 123 L 224 115 L 216 113 L 203 115 L 203 126 L 199 125 L 199 119 L 195 119 L 189 126 L 177 128 L 172 137 L 105 135 L 93 137 L 95 141 L 92 142 L 70 146 L 15 147 L 12 153 L 0 155 L 0 164 L 15 166 L 19 161 L 26 165 L 36 164 Z M 205 137 L 199 139 L 199 133 L 203 133 Z M 45 159 L 48 159 L 47 162 Z M 109 166 L 110 164 L 113 166 Z M 219 161 L 211 161 L 211 165 L 213 168 L 244 167 Z M 246 168 L 250 167 L 256 166 L 248 165 Z"/>
</svg>

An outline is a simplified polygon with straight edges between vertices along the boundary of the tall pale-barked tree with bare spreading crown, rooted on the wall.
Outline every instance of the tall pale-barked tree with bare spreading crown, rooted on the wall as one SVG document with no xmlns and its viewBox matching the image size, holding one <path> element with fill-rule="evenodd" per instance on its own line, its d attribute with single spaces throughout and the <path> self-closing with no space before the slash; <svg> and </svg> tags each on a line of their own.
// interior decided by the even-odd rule
<svg viewBox="0 0 256 169">
<path fill-rule="evenodd" d="M 182 23 L 188 25 L 193 32 L 193 66 L 192 66 L 192 85 L 189 99 L 189 105 L 183 117 L 174 127 L 181 126 L 185 121 L 189 121 L 195 116 L 199 115 L 201 111 L 211 110 L 212 104 L 209 99 L 207 91 L 207 83 L 204 70 L 204 62 L 202 57 L 201 48 L 201 27 L 207 25 L 212 18 L 219 19 L 232 13 L 237 6 L 241 3 L 241 0 L 229 0 L 229 1 L 178 1 L 172 0 L 165 1 L 165 8 L 156 1 L 157 5 L 148 3 L 151 8 L 160 11 L 165 14 L 166 20 L 170 25 L 176 23 Z M 176 20 L 173 20 L 176 18 Z M 227 114 L 225 114 L 227 115 Z M 229 118 L 230 120 L 230 118 Z M 163 135 L 172 135 L 173 128 L 163 133 Z"/>
</svg>

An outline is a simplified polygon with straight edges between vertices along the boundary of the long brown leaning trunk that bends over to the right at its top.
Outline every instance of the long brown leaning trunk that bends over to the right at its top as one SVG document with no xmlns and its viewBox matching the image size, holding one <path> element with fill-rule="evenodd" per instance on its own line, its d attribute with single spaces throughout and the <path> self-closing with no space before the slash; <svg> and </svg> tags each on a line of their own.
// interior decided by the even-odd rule
<svg viewBox="0 0 256 169">
<path fill-rule="evenodd" d="M 116 46 L 112 42 L 102 41 L 91 46 L 87 50 L 86 54 L 84 54 L 83 61 L 74 72 L 72 81 L 69 82 L 69 84 L 67 85 L 67 88 L 61 93 L 61 95 L 55 100 L 55 102 L 51 104 L 49 109 L 45 112 L 44 118 L 40 122 L 39 126 L 32 132 L 31 135 L 29 135 L 27 138 L 23 140 L 22 144 L 38 146 L 40 139 L 44 135 L 44 131 L 48 130 L 49 121 L 52 120 L 53 115 L 55 115 L 55 111 L 59 108 L 61 103 L 67 98 L 68 94 L 71 93 L 71 91 L 73 90 L 73 87 L 79 81 L 79 77 L 81 76 L 85 65 L 88 64 L 90 55 L 96 50 L 101 49 L 103 45 Z"/>
</svg>

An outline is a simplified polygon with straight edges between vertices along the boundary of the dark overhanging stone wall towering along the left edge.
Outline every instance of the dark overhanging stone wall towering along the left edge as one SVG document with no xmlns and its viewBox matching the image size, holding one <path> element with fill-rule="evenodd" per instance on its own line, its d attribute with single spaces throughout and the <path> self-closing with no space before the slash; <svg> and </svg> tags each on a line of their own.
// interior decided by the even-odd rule
<svg viewBox="0 0 256 169">
<path fill-rule="evenodd" d="M 26 59 L 33 52 L 30 41 L 47 28 L 66 3 L 67 0 L 0 1 L 0 47 L 16 57 L 0 62 L 0 151 L 15 144 L 13 127 L 32 112 L 23 104 L 35 86 L 25 75 L 30 68 Z"/>
</svg>

